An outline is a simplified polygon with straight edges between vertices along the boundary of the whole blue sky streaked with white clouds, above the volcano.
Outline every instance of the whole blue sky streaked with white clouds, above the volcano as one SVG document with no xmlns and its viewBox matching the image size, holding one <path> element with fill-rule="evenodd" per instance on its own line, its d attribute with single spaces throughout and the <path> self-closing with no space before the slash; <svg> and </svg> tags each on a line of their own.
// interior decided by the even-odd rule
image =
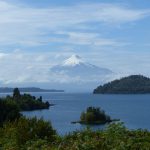
<svg viewBox="0 0 150 150">
<path fill-rule="evenodd" d="M 72 54 L 150 76 L 149 27 L 148 0 L 0 0 L 0 83 L 51 83 L 49 68 Z"/>
</svg>

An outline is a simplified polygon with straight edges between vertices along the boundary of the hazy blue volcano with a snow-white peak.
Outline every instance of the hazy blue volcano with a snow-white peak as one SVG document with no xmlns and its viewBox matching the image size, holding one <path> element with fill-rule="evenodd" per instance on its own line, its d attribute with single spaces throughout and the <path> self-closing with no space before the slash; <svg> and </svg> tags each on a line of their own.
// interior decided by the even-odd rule
<svg viewBox="0 0 150 150">
<path fill-rule="evenodd" d="M 52 67 L 51 71 L 71 77 L 78 77 L 83 80 L 92 80 L 96 77 L 112 73 L 112 71 L 107 68 L 98 67 L 84 61 L 78 55 L 72 55 L 61 64 Z"/>
</svg>

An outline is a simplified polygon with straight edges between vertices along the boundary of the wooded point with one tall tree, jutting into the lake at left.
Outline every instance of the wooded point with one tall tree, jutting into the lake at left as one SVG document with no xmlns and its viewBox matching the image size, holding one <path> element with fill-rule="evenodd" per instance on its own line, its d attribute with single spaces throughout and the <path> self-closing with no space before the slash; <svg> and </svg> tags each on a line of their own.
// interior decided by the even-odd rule
<svg viewBox="0 0 150 150">
<path fill-rule="evenodd" d="M 20 94 L 18 88 L 15 88 L 13 95 L 7 95 L 5 98 L 1 98 L 7 104 L 13 103 L 17 105 L 20 111 L 32 111 L 40 109 L 48 109 L 50 104 L 48 101 L 43 102 L 42 96 L 36 98 L 30 94 Z"/>
</svg>

